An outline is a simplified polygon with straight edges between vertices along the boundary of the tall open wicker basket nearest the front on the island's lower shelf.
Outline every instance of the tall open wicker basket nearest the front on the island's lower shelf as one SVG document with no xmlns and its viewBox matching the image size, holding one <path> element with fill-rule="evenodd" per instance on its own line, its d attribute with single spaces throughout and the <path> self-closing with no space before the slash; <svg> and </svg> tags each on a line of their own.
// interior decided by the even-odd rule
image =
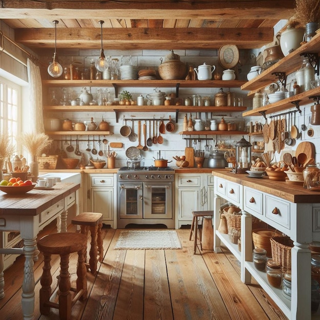
<svg viewBox="0 0 320 320">
<path fill-rule="evenodd" d="M 271 237 L 272 260 L 281 263 L 282 272 L 291 270 L 291 248 L 293 241 L 289 237 Z"/>
</svg>

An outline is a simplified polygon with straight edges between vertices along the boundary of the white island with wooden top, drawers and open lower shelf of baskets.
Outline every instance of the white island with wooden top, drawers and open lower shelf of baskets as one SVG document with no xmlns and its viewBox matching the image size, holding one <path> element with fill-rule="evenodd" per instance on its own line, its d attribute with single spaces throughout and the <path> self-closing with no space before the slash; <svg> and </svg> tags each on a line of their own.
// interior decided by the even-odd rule
<svg viewBox="0 0 320 320">
<path fill-rule="evenodd" d="M 225 170 L 214 170 L 214 249 L 221 252 L 221 242 L 241 263 L 241 280 L 251 282 L 251 276 L 278 304 L 289 319 L 311 319 L 311 252 L 312 241 L 320 241 L 320 194 L 291 186 L 285 181 L 272 181 L 268 177 L 249 178 Z M 221 199 L 241 209 L 241 252 L 227 235 L 220 234 L 219 209 Z M 266 222 L 293 240 L 291 249 L 292 293 L 291 301 L 282 290 L 271 287 L 266 273 L 258 271 L 252 263 L 252 217 Z"/>
</svg>

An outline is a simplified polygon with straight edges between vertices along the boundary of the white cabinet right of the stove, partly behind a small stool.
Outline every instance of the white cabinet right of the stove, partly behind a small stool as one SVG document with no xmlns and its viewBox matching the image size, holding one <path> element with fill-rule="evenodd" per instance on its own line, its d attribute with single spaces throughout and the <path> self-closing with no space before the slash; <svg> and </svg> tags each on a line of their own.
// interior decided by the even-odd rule
<svg viewBox="0 0 320 320">
<path fill-rule="evenodd" d="M 213 210 L 213 176 L 208 173 L 178 173 L 175 177 L 176 228 L 192 223 L 192 211 Z"/>
</svg>

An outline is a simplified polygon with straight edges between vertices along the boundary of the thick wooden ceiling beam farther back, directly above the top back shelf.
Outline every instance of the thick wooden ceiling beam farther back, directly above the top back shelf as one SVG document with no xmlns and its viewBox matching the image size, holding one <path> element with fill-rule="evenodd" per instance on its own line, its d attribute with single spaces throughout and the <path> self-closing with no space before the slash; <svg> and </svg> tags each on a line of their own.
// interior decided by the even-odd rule
<svg viewBox="0 0 320 320">
<path fill-rule="evenodd" d="M 53 48 L 54 29 L 19 29 L 15 41 L 30 48 Z M 112 49 L 218 49 L 236 44 L 240 49 L 261 48 L 272 41 L 270 28 L 105 28 L 104 47 Z M 170 48 L 168 48 L 170 44 Z M 100 30 L 57 30 L 58 48 L 99 49 Z"/>
</svg>

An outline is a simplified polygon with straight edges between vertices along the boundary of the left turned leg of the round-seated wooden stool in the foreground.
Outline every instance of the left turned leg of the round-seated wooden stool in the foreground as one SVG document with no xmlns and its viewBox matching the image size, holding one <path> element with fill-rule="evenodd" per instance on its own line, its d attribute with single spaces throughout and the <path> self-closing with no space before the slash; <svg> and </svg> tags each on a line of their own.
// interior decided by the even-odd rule
<svg viewBox="0 0 320 320">
<path fill-rule="evenodd" d="M 43 253 L 43 262 L 44 265 L 42 267 L 42 276 L 40 279 L 41 289 L 40 289 L 40 313 L 48 315 L 50 313 L 50 307 L 47 303 L 50 300 L 51 296 L 51 284 L 52 284 L 52 276 L 51 276 L 51 254 Z"/>
</svg>

